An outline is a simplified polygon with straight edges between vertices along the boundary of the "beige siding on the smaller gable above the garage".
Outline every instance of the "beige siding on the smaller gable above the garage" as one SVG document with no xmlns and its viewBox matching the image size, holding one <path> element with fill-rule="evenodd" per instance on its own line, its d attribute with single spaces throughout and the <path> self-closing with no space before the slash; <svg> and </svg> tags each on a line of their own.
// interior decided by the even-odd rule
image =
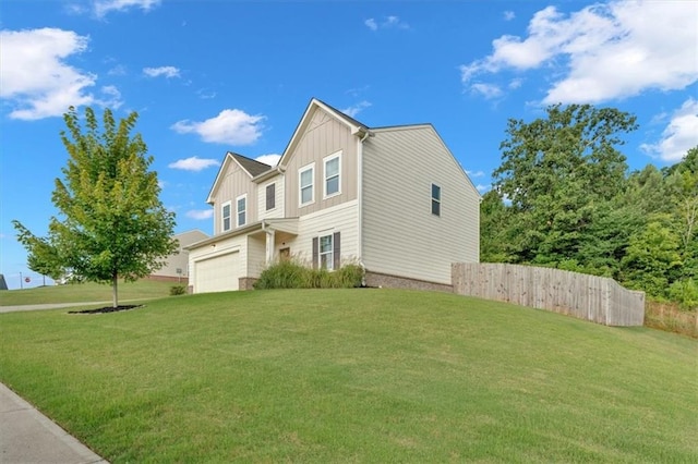
<svg viewBox="0 0 698 464">
<path fill-rule="evenodd" d="M 246 199 L 246 218 L 245 223 L 251 224 L 257 220 L 257 208 L 254 205 L 254 198 L 257 195 L 257 185 L 253 183 L 248 174 L 237 162 L 230 162 L 224 174 L 220 184 L 215 193 L 212 194 L 214 200 L 214 234 L 227 232 L 222 230 L 221 208 L 227 202 L 230 202 L 230 224 L 231 230 L 236 229 L 237 219 L 237 202 L 236 198 L 241 195 L 248 195 Z"/>
</svg>

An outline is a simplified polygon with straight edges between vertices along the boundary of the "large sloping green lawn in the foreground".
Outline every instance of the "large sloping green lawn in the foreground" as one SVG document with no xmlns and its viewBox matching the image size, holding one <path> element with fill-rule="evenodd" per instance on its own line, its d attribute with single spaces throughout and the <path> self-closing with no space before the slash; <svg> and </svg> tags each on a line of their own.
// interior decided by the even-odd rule
<svg viewBox="0 0 698 464">
<path fill-rule="evenodd" d="M 113 463 L 698 457 L 698 342 L 452 294 L 0 315 L 0 380 Z"/>
</svg>

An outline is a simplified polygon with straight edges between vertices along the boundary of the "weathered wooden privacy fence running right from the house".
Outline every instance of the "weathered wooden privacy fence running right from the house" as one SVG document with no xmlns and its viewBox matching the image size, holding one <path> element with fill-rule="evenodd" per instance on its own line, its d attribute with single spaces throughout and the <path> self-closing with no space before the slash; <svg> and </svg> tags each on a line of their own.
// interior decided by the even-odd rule
<svg viewBox="0 0 698 464">
<path fill-rule="evenodd" d="M 552 268 L 505 264 L 452 266 L 454 293 L 547 309 L 606 326 L 641 326 L 645 292 L 615 280 Z"/>
</svg>

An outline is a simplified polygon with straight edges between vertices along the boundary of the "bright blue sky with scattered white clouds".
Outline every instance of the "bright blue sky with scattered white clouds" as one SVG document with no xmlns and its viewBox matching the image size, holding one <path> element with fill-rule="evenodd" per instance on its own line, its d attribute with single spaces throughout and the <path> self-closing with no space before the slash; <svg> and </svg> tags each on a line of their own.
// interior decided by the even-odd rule
<svg viewBox="0 0 698 464">
<path fill-rule="evenodd" d="M 45 235 L 69 106 L 140 114 L 177 232 L 210 233 L 227 150 L 274 163 L 312 97 L 369 126 L 431 122 L 481 192 L 507 120 L 550 103 L 637 115 L 631 170 L 698 144 L 696 1 L 4 0 L 0 272 L 11 220 Z"/>
</svg>

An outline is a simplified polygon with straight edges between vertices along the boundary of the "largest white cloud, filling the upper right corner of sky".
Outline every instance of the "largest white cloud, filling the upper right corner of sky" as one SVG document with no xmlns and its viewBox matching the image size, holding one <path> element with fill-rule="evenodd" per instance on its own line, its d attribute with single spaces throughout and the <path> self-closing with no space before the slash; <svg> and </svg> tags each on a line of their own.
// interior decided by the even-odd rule
<svg viewBox="0 0 698 464">
<path fill-rule="evenodd" d="M 683 89 L 698 81 L 698 7 L 691 1 L 619 0 L 569 15 L 537 12 L 528 36 L 502 36 L 493 52 L 462 65 L 461 81 L 504 70 L 545 66 L 553 82 L 544 103 L 599 102 L 647 89 Z"/>
</svg>

